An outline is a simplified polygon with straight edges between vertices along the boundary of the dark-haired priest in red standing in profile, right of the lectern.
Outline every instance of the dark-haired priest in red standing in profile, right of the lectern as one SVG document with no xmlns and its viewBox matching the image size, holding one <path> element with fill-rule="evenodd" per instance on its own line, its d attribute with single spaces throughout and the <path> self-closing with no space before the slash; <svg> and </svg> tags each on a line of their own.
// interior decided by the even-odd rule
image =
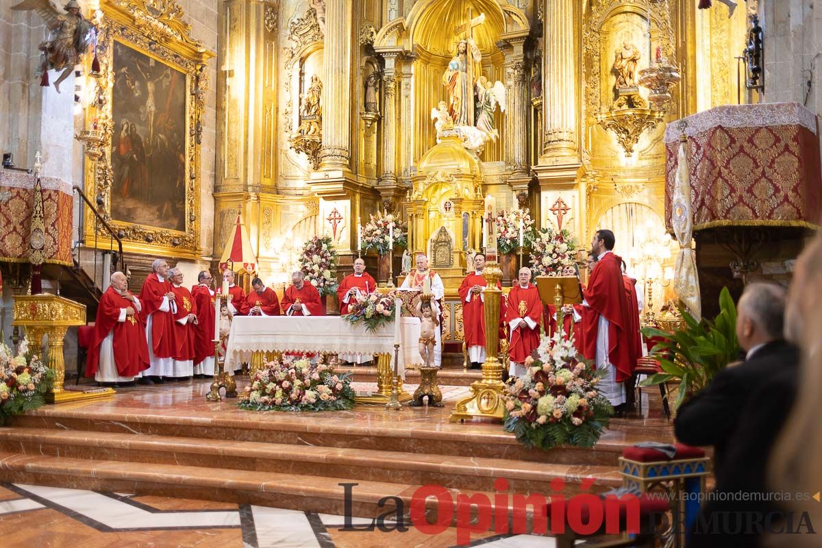
<svg viewBox="0 0 822 548">
<path fill-rule="evenodd" d="M 585 356 L 593 356 L 598 369 L 607 369 L 600 380 L 600 394 L 624 412 L 626 387 L 635 363 L 630 362 L 628 298 L 622 281 L 621 258 L 613 253 L 615 238 L 610 230 L 598 230 L 591 240 L 597 255 L 588 287 L 583 292 L 584 305 L 593 313 L 584 315 Z M 623 406 L 623 407 L 621 407 Z"/>
</svg>

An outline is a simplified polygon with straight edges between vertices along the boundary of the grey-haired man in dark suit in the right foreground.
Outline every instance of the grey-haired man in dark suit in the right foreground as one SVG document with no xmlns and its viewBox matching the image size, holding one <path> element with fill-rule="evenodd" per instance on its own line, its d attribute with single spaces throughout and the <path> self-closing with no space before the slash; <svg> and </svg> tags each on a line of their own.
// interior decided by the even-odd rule
<svg viewBox="0 0 822 548">
<path fill-rule="evenodd" d="M 737 338 L 746 360 L 726 367 L 710 385 L 684 403 L 674 431 L 686 444 L 713 445 L 713 498 L 702 504 L 688 546 L 758 546 L 745 529 L 745 513 L 768 513 L 773 503 L 727 496 L 766 493 L 765 470 L 778 431 L 790 412 L 799 351 L 783 339 L 785 291 L 751 283 L 737 305 Z M 725 496 L 723 496 L 725 494 Z M 749 497 L 750 499 L 750 497 Z"/>
</svg>

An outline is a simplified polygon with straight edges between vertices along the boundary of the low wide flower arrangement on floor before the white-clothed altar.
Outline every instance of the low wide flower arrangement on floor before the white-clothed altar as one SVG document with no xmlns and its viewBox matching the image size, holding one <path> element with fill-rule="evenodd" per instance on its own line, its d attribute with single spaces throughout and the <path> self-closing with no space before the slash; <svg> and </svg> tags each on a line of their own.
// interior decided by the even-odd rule
<svg viewBox="0 0 822 548">
<path fill-rule="evenodd" d="M 354 406 L 348 374 L 325 363 L 270 361 L 240 394 L 241 409 L 252 411 L 342 411 Z"/>
</svg>

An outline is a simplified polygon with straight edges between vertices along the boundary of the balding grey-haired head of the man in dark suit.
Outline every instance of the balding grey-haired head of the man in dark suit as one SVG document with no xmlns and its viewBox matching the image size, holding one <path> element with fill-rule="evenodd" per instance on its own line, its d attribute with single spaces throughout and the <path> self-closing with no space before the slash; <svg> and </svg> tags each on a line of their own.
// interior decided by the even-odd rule
<svg viewBox="0 0 822 548">
<path fill-rule="evenodd" d="M 750 350 L 783 337 L 786 291 L 776 283 L 749 283 L 737 303 L 737 338 Z"/>
</svg>

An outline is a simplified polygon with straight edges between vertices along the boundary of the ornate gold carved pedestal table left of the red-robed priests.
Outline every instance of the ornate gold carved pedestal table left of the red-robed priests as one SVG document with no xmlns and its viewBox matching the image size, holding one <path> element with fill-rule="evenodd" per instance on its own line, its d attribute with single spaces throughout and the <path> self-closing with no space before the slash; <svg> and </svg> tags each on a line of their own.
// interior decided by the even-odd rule
<svg viewBox="0 0 822 548">
<path fill-rule="evenodd" d="M 114 390 L 110 388 L 85 390 L 63 388 L 63 382 L 66 380 L 66 362 L 62 355 L 63 339 L 69 327 L 85 325 L 85 305 L 50 293 L 15 295 L 12 325 L 25 327 L 29 343 L 35 348 L 39 348 L 43 342 L 43 335 L 48 335 L 48 351 L 44 362 L 57 375 L 52 390 L 46 394 L 46 402 L 76 402 L 114 394 Z"/>
</svg>

